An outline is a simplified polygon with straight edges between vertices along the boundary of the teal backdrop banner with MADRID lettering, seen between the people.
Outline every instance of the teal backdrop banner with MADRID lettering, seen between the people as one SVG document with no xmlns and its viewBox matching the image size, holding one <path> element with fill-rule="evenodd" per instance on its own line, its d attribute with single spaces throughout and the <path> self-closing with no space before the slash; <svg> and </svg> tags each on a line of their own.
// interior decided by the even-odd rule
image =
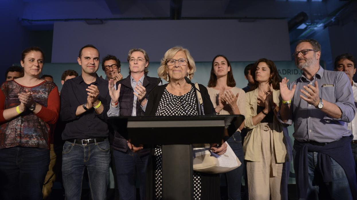
<svg viewBox="0 0 357 200">
<path fill-rule="evenodd" d="M 237 83 L 236 87 L 243 88 L 247 86 L 247 80 L 244 77 L 244 68 L 249 63 L 252 62 L 231 62 L 233 76 Z M 294 62 L 292 61 L 276 61 L 276 67 L 278 69 L 279 74 L 282 77 L 287 77 L 288 79 L 295 80 L 296 78 L 301 76 L 301 71 L 295 67 Z M 193 77 L 192 82 L 198 82 L 205 86 L 207 86 L 208 80 L 210 78 L 211 71 L 211 62 L 196 62 L 196 72 Z M 129 67 L 127 62 L 121 63 L 121 74 L 124 77 L 129 75 Z M 148 76 L 157 77 L 157 68 L 159 68 L 159 62 L 150 62 L 149 65 L 149 73 Z M 55 83 L 57 84 L 59 90 L 61 90 L 61 75 L 65 70 L 72 69 L 81 74 L 81 66 L 78 63 L 45 63 L 44 68 L 42 70 L 42 74 L 52 75 Z M 106 78 L 104 71 L 99 67 L 97 71 L 99 76 Z M 163 80 L 163 84 L 167 83 Z M 293 126 L 288 127 L 289 135 L 291 138 L 291 142 L 293 142 L 292 133 L 294 132 Z M 293 163 L 290 165 L 290 179 L 289 183 L 295 183 L 295 173 L 293 169 Z"/>
</svg>

